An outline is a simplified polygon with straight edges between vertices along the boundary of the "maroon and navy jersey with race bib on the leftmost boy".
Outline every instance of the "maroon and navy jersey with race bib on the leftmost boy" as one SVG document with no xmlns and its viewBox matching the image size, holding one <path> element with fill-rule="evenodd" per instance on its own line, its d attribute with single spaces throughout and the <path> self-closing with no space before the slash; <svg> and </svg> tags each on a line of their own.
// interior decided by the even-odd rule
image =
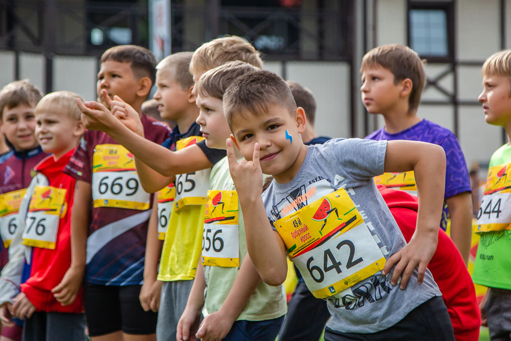
<svg viewBox="0 0 511 341">
<path fill-rule="evenodd" d="M 0 157 L 0 237 L 2 238 L 1 266 L 8 261 L 7 248 L 15 233 L 17 212 L 21 199 L 25 195 L 25 189 L 29 186 L 33 168 L 48 153 L 37 147 L 28 151 L 14 151 Z"/>
</svg>

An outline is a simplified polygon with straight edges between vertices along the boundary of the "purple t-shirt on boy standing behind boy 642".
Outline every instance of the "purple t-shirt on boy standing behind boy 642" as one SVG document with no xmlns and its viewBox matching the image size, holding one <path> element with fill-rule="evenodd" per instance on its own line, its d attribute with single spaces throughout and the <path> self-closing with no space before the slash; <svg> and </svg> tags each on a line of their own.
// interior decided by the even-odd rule
<svg viewBox="0 0 511 341">
<path fill-rule="evenodd" d="M 422 120 L 408 129 L 393 134 L 386 132 L 385 128 L 381 128 L 367 135 L 365 139 L 422 141 L 442 146 L 447 158 L 444 197 L 449 198 L 463 192 L 471 192 L 469 171 L 465 157 L 456 136 L 449 129 L 428 120 Z M 444 230 L 446 229 L 447 214 L 447 205 L 444 205 L 441 222 L 442 229 Z"/>
</svg>

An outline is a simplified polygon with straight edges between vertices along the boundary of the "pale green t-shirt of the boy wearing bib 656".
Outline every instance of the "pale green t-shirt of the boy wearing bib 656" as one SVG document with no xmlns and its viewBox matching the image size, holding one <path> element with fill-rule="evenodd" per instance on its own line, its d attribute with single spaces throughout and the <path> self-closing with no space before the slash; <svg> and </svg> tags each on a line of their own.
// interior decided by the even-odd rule
<svg viewBox="0 0 511 341">
<path fill-rule="evenodd" d="M 230 177 L 227 157 L 222 158 L 210 173 L 211 190 L 236 190 L 233 179 Z M 238 240 L 239 240 L 239 265 L 247 254 L 245 239 L 245 225 L 241 210 L 238 213 Z M 213 313 L 218 311 L 233 287 L 239 267 L 204 266 L 204 278 L 206 281 L 205 311 Z M 284 286 L 270 286 L 263 281 L 259 283 L 250 296 L 240 315 L 236 319 L 247 321 L 264 321 L 276 319 L 287 311 L 286 292 Z"/>
</svg>

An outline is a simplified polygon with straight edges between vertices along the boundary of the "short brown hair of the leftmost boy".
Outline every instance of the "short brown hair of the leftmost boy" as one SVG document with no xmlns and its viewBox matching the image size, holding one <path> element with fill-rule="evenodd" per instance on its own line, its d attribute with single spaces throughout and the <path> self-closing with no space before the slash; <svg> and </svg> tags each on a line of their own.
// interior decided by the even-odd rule
<svg viewBox="0 0 511 341">
<path fill-rule="evenodd" d="M 14 108 L 20 104 L 36 106 L 42 97 L 41 90 L 27 79 L 17 80 L 0 90 L 0 119 L 4 116 L 4 108 Z"/>
</svg>

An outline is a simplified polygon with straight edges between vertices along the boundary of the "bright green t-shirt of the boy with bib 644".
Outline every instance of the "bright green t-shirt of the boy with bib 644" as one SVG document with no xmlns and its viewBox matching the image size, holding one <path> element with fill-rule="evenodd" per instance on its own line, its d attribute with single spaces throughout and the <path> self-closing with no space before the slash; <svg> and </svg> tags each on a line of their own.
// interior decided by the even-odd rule
<svg viewBox="0 0 511 341">
<path fill-rule="evenodd" d="M 506 143 L 493 153 L 490 168 L 510 162 L 511 146 Z M 511 290 L 511 230 L 481 233 L 472 279 L 477 284 Z"/>
</svg>

